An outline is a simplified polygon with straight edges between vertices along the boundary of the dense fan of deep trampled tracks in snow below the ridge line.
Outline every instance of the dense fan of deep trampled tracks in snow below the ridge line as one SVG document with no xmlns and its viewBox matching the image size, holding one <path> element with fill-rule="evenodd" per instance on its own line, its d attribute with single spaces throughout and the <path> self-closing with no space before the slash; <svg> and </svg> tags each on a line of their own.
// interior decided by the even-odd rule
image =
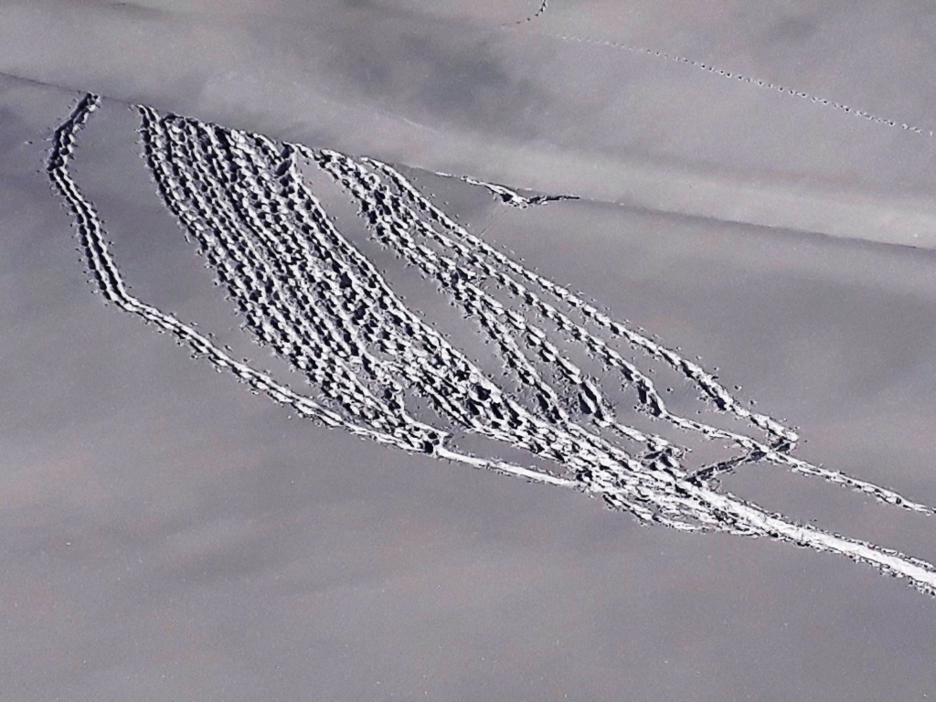
<svg viewBox="0 0 936 702">
<path fill-rule="evenodd" d="M 97 212 L 68 171 L 76 135 L 99 105 L 95 95 L 80 100 L 56 130 L 47 166 L 74 217 L 95 284 L 106 300 L 168 331 L 219 372 L 233 373 L 302 417 L 360 438 L 598 495 L 644 522 L 682 531 L 768 536 L 838 553 L 936 594 L 936 568 L 929 563 L 796 524 L 713 486 L 719 475 L 743 463 L 769 461 L 915 512 L 933 514 L 932 508 L 796 459 L 791 455 L 796 432 L 743 407 L 697 364 L 475 237 L 395 168 L 140 106 L 142 155 L 159 196 L 227 290 L 244 329 L 300 373 L 320 399 L 231 358 L 192 325 L 128 292 Z M 357 203 L 375 241 L 435 283 L 475 323 L 497 349 L 505 372 L 529 389 L 530 397 L 512 396 L 499 387 L 394 294 L 329 219 L 301 170 L 303 162 L 339 183 Z M 507 204 L 517 204 L 512 197 L 524 199 L 495 187 L 505 192 L 489 189 Z M 536 204 L 525 199 L 517 206 Z M 495 299 L 484 283 L 509 294 L 510 302 Z M 557 304 L 587 321 L 577 323 Z M 557 330 L 546 331 L 537 319 Z M 615 336 L 682 373 L 703 402 L 746 421 L 755 436 L 671 413 L 651 379 L 610 347 L 608 339 Z M 682 446 L 629 427 L 615 415 L 594 379 L 563 353 L 563 344 L 578 344 L 606 372 L 617 373 L 623 386 L 636 388 L 639 411 L 678 435 L 730 442 L 739 455 L 695 471 L 685 467 Z M 552 384 L 546 370 L 556 379 Z M 442 420 L 435 423 L 445 430 L 407 409 L 412 394 L 429 402 L 434 418 Z M 457 440 L 467 433 L 550 461 L 563 475 L 465 453 Z"/>
</svg>

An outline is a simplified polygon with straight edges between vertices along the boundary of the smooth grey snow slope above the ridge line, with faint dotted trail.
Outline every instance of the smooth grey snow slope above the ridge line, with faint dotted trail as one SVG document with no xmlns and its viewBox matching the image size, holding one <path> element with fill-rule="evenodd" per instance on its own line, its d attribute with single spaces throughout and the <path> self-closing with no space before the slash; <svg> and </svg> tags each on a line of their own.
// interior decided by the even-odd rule
<svg viewBox="0 0 936 702">
<path fill-rule="evenodd" d="M 29 0 L 0 7 L 0 71 L 543 192 L 936 244 L 929 7 L 558 2 L 518 24 L 534 5 Z"/>
</svg>

